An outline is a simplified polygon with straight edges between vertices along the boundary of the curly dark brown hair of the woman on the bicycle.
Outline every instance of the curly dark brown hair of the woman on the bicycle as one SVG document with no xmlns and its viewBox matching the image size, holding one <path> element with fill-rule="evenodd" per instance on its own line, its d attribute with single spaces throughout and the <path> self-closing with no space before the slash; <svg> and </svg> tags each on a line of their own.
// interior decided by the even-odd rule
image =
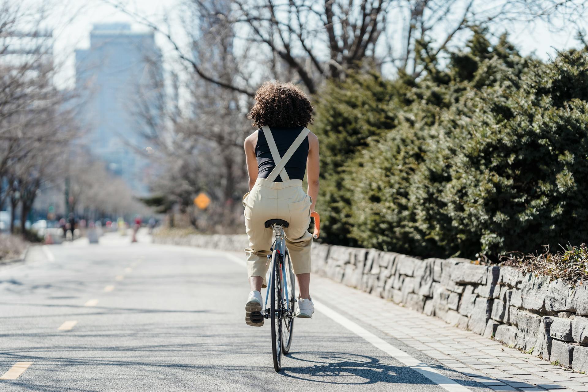
<svg viewBox="0 0 588 392">
<path fill-rule="evenodd" d="M 255 93 L 255 105 L 247 118 L 256 128 L 295 128 L 312 124 L 312 110 L 308 97 L 292 83 L 265 82 Z"/>
</svg>

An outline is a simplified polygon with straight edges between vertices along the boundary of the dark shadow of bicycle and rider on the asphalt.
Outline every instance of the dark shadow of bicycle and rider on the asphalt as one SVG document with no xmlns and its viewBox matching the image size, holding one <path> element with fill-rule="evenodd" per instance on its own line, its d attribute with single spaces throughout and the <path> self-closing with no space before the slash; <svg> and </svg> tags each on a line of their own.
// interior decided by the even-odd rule
<svg viewBox="0 0 588 392">
<path fill-rule="evenodd" d="M 282 367 L 284 376 L 299 380 L 349 385 L 380 382 L 433 384 L 409 367 L 381 363 L 379 359 L 360 354 L 307 351 L 290 353 L 288 357 L 310 364 L 306 367 Z"/>
</svg>

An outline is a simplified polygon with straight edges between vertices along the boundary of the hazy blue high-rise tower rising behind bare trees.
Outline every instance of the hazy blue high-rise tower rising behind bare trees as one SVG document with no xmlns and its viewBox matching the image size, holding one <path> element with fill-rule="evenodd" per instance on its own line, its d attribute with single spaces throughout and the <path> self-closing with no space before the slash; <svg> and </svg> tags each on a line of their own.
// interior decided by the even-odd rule
<svg viewBox="0 0 588 392">
<path fill-rule="evenodd" d="M 146 102 L 139 92 L 161 78 L 161 52 L 153 33 L 133 31 L 130 24 L 96 24 L 90 47 L 76 51 L 81 123 L 88 131 L 83 142 L 140 196 L 148 193 L 148 162 L 138 152 L 147 147 L 138 119 L 139 105 Z"/>
</svg>

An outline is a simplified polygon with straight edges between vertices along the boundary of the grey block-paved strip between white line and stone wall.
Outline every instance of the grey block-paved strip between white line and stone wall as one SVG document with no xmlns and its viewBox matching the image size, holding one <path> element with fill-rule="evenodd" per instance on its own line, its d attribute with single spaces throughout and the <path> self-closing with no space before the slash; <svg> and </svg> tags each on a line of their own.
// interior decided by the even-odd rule
<svg viewBox="0 0 588 392">
<path fill-rule="evenodd" d="M 588 376 L 332 280 L 311 293 L 496 391 L 588 391 Z"/>
</svg>

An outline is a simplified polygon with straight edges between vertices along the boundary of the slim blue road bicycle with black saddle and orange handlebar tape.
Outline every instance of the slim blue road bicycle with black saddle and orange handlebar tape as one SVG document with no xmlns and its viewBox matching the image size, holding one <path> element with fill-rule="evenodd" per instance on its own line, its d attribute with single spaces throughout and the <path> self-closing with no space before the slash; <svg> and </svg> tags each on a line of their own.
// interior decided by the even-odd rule
<svg viewBox="0 0 588 392">
<path fill-rule="evenodd" d="M 311 213 L 310 216 L 315 218 L 313 237 L 316 239 L 320 233 L 320 217 L 316 212 Z M 280 371 L 282 368 L 282 354 L 288 354 L 290 351 L 292 330 L 296 318 L 296 282 L 284 237 L 284 227 L 288 226 L 289 223 L 282 219 L 270 219 L 265 222 L 265 227 L 272 227 L 275 240 L 270 248 L 272 254 L 268 254 L 268 259 L 272 261 L 272 264 L 265 304 L 263 305 L 265 313 L 262 317 L 271 319 L 273 368 L 276 371 Z M 268 308 L 270 290 L 271 299 Z M 285 344 L 284 332 L 286 334 Z"/>
</svg>

